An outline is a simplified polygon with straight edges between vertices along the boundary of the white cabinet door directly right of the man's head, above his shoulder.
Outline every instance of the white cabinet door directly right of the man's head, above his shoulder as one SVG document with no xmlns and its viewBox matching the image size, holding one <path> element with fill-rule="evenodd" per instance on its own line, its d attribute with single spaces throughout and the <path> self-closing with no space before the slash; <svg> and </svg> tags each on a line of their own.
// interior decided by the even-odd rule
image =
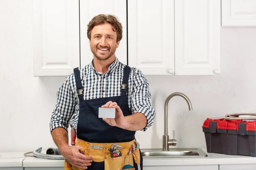
<svg viewBox="0 0 256 170">
<path fill-rule="evenodd" d="M 174 73 L 174 0 L 128 0 L 128 65 Z"/>
</svg>

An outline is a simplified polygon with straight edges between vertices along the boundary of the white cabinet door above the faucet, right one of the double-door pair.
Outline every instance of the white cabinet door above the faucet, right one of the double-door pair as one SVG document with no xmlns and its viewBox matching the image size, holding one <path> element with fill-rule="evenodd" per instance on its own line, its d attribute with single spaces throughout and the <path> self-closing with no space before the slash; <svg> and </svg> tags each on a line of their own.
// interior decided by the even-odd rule
<svg viewBox="0 0 256 170">
<path fill-rule="evenodd" d="M 221 0 L 175 0 L 175 74 L 220 72 Z"/>
</svg>

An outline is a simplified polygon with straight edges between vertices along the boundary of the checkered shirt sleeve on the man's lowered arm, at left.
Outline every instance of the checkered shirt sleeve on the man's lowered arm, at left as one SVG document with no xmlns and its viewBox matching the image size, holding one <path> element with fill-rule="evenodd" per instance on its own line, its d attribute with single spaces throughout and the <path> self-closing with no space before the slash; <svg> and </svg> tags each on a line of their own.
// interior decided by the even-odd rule
<svg viewBox="0 0 256 170">
<path fill-rule="evenodd" d="M 50 120 L 50 130 L 52 132 L 56 127 L 68 129 L 70 118 L 75 109 L 76 101 L 70 87 L 70 77 L 66 77 L 64 83 L 57 91 L 57 102 Z"/>
</svg>

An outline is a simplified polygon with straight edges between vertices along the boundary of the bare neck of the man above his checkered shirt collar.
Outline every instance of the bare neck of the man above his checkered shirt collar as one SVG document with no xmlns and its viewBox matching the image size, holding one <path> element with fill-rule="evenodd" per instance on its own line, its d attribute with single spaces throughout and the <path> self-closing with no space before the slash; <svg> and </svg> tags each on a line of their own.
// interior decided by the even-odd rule
<svg viewBox="0 0 256 170">
<path fill-rule="evenodd" d="M 99 60 L 96 57 L 93 56 L 93 67 L 98 71 L 99 73 L 106 73 L 108 71 L 109 66 L 115 61 L 115 56 L 110 57 L 106 60 Z"/>
</svg>

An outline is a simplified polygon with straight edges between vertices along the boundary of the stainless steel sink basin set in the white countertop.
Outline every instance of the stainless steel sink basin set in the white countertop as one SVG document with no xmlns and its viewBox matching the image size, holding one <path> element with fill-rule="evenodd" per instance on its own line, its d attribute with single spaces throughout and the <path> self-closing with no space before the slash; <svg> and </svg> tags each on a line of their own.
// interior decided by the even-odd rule
<svg viewBox="0 0 256 170">
<path fill-rule="evenodd" d="M 144 158 L 176 158 L 176 157 L 206 157 L 207 154 L 200 148 L 173 148 L 169 151 L 162 149 L 142 149 Z"/>
</svg>

